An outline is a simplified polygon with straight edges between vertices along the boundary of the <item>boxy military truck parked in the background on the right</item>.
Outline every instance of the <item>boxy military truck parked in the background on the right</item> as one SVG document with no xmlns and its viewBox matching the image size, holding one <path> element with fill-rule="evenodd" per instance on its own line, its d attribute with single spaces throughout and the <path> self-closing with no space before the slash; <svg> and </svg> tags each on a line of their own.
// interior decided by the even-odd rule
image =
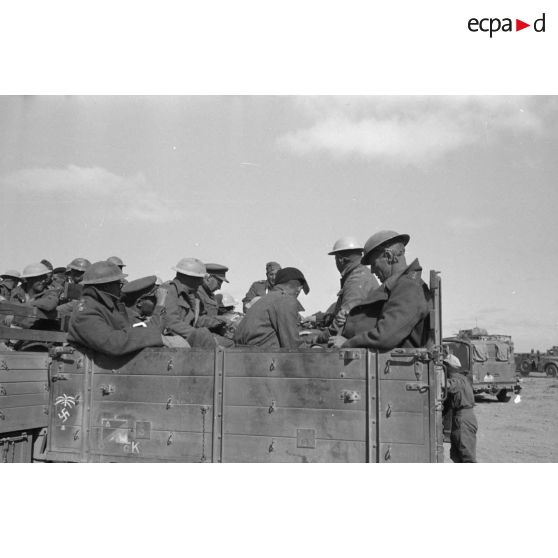
<svg viewBox="0 0 558 558">
<path fill-rule="evenodd" d="M 515 370 L 513 342 L 509 335 L 489 335 L 485 329 L 463 329 L 443 340 L 450 353 L 457 356 L 461 368 L 470 372 L 475 394 L 496 395 L 507 402 L 521 391 Z"/>
</svg>

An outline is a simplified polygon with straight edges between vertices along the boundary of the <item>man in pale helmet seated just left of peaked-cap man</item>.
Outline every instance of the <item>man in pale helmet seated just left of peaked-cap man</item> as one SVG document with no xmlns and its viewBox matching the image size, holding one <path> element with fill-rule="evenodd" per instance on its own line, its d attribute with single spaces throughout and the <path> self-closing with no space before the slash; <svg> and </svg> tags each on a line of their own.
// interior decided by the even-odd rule
<svg viewBox="0 0 558 558">
<path fill-rule="evenodd" d="M 181 335 L 192 347 L 214 348 L 218 343 L 206 327 L 197 327 L 200 301 L 196 292 L 207 274 L 205 264 L 196 258 L 182 258 L 175 267 L 176 277 L 164 283 L 167 329 Z"/>
</svg>

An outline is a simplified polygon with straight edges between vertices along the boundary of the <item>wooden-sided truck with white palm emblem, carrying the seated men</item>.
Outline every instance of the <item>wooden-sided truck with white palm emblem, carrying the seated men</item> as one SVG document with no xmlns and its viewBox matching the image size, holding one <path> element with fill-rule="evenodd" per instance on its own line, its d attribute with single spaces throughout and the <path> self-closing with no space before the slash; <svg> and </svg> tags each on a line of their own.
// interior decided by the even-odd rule
<svg viewBox="0 0 558 558">
<path fill-rule="evenodd" d="M 418 349 L 150 348 L 109 357 L 0 327 L 2 461 L 443 460 L 440 279 Z M 37 347 L 36 347 L 37 348 Z M 46 428 L 46 435 L 45 435 Z"/>
</svg>

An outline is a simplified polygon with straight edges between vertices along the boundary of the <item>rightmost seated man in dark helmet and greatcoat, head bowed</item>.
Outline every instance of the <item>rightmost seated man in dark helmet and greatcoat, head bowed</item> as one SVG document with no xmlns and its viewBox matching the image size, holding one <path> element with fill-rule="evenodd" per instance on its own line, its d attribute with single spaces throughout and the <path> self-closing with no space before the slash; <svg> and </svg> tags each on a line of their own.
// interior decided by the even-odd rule
<svg viewBox="0 0 558 558">
<path fill-rule="evenodd" d="M 362 264 L 371 266 L 382 285 L 351 310 L 343 335 L 333 339 L 336 347 L 388 351 L 425 346 L 430 294 L 418 260 L 406 263 L 409 238 L 408 234 L 380 231 L 366 241 Z"/>
</svg>

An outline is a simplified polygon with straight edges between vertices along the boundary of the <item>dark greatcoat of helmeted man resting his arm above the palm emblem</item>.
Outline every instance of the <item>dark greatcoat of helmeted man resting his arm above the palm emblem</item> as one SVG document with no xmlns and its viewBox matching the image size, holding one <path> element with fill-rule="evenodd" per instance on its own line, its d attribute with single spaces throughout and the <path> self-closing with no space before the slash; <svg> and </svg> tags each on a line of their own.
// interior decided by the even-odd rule
<svg viewBox="0 0 558 558">
<path fill-rule="evenodd" d="M 70 317 L 68 341 L 113 356 L 163 345 L 160 330 L 132 327 L 126 310 L 91 285 L 84 287 Z"/>
</svg>

